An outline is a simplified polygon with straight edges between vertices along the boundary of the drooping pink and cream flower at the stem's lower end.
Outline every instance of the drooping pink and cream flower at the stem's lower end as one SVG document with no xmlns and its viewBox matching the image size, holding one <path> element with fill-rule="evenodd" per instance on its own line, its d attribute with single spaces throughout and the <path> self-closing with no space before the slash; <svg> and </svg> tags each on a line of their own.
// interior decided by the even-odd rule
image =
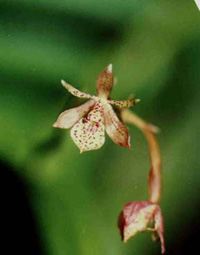
<svg viewBox="0 0 200 255">
<path fill-rule="evenodd" d="M 126 204 L 119 216 L 118 227 L 124 242 L 134 237 L 137 232 L 152 231 L 153 240 L 159 237 L 162 254 L 165 253 L 164 224 L 159 205 L 144 201 Z"/>
</svg>

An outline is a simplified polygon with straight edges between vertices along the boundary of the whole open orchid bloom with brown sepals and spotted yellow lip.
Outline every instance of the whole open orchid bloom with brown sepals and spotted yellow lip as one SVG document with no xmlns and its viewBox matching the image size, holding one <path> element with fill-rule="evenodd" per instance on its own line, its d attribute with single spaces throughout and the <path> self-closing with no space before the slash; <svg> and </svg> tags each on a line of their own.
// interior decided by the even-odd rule
<svg viewBox="0 0 200 255">
<path fill-rule="evenodd" d="M 97 77 L 97 96 L 81 92 L 64 80 L 61 81 L 72 95 L 89 99 L 81 106 L 62 112 L 53 124 L 56 128 L 71 128 L 71 138 L 80 152 L 101 148 L 105 142 L 105 131 L 117 145 L 131 148 L 128 129 L 118 119 L 111 105 L 129 108 L 140 100 L 111 100 L 109 94 L 113 87 L 113 80 L 112 64 L 110 64 Z"/>
</svg>

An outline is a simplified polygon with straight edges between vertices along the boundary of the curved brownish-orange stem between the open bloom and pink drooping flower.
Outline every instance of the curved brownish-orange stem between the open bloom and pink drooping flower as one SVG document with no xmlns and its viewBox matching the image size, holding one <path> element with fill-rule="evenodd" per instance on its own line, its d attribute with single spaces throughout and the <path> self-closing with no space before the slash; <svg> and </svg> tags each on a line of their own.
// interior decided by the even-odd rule
<svg viewBox="0 0 200 255">
<path fill-rule="evenodd" d="M 155 136 L 155 133 L 158 133 L 159 129 L 152 124 L 145 122 L 128 109 L 121 111 L 121 118 L 123 122 L 138 127 L 147 139 L 151 161 L 149 171 L 149 201 L 151 203 L 159 204 L 162 191 L 161 155 Z"/>
</svg>

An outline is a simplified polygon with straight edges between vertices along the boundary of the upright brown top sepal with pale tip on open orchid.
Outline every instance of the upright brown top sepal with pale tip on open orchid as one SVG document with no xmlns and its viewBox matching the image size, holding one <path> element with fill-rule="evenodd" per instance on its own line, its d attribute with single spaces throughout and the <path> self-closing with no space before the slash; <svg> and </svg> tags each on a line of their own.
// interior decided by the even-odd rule
<svg viewBox="0 0 200 255">
<path fill-rule="evenodd" d="M 112 64 L 99 74 L 96 82 L 97 95 L 102 98 L 108 98 L 113 87 Z"/>
</svg>

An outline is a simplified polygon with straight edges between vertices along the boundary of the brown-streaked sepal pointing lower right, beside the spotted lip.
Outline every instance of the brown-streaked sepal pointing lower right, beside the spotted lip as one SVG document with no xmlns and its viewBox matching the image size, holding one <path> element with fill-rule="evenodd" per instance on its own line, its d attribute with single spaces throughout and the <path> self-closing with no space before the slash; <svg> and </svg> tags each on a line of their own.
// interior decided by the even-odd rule
<svg viewBox="0 0 200 255">
<path fill-rule="evenodd" d="M 104 107 L 104 121 L 106 132 L 114 143 L 131 148 L 130 136 L 126 126 L 118 119 L 116 113 L 109 104 Z"/>
</svg>

